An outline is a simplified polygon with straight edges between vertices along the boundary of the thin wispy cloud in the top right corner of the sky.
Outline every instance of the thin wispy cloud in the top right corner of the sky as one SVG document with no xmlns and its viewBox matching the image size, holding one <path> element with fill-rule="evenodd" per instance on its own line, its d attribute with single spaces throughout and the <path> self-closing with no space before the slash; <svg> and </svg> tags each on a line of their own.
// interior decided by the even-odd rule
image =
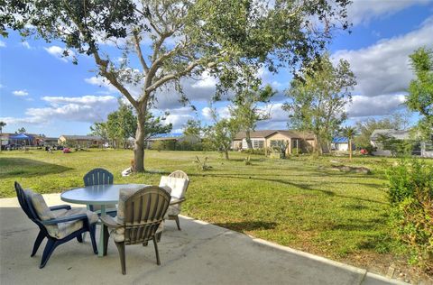
<svg viewBox="0 0 433 285">
<path fill-rule="evenodd" d="M 371 20 L 387 17 L 412 5 L 427 5 L 431 0 L 354 0 L 347 9 L 348 19 L 354 25 L 369 23 Z"/>
</svg>

